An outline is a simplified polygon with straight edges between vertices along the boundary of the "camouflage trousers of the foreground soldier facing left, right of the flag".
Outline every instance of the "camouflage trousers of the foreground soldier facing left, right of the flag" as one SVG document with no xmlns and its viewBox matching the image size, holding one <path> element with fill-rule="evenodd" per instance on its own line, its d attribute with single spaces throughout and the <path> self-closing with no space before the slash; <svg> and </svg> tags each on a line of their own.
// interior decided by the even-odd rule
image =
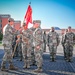
<svg viewBox="0 0 75 75">
<path fill-rule="evenodd" d="M 37 50 L 35 48 L 34 54 L 35 54 L 35 61 L 36 61 L 37 67 L 38 68 L 42 67 L 42 64 L 43 64 L 43 58 L 42 58 L 43 51 L 41 49 Z"/>
</svg>

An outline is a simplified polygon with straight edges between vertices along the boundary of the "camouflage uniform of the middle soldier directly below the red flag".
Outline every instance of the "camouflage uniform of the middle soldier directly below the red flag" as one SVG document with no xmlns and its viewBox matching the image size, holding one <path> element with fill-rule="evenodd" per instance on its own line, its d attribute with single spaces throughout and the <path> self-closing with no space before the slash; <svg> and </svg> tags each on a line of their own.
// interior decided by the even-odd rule
<svg viewBox="0 0 75 75">
<path fill-rule="evenodd" d="M 24 67 L 30 68 L 31 61 L 31 34 L 30 30 L 24 30 L 22 34 L 22 54 L 24 59 Z"/>
</svg>

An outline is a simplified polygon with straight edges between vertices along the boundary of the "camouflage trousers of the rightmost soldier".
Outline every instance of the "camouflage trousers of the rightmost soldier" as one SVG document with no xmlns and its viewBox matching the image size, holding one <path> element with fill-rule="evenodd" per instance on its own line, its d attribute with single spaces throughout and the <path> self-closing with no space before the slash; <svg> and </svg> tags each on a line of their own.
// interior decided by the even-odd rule
<svg viewBox="0 0 75 75">
<path fill-rule="evenodd" d="M 73 45 L 65 44 L 65 52 L 67 60 L 71 60 L 73 57 Z"/>
</svg>

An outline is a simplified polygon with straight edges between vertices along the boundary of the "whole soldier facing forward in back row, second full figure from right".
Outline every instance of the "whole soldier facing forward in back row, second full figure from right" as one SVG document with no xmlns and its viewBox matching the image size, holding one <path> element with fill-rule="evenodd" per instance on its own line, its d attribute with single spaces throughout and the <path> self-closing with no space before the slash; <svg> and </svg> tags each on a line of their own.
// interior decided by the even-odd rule
<svg viewBox="0 0 75 75">
<path fill-rule="evenodd" d="M 51 27 L 51 31 L 47 36 L 47 45 L 50 51 L 50 58 L 52 61 L 55 61 L 57 46 L 59 45 L 59 35 L 55 32 L 54 27 Z"/>
</svg>

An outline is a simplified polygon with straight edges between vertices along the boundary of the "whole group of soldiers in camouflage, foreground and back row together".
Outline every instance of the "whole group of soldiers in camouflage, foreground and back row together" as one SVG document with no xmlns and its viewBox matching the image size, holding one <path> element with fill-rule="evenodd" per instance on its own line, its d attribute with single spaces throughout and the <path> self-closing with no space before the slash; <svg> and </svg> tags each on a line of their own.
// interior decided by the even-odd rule
<svg viewBox="0 0 75 75">
<path fill-rule="evenodd" d="M 51 61 L 56 60 L 57 46 L 60 43 L 60 38 L 54 27 L 48 34 L 42 31 L 41 21 L 34 20 L 31 28 L 26 27 L 23 23 L 23 28 L 20 31 L 15 31 L 13 28 L 14 20 L 8 19 L 8 24 L 3 28 L 3 46 L 5 54 L 1 63 L 1 70 L 7 71 L 6 62 L 9 63 L 9 70 L 17 70 L 14 67 L 12 59 L 19 56 L 20 61 L 24 62 L 23 69 L 30 68 L 31 65 L 36 65 L 35 72 L 42 72 L 43 52 L 46 52 L 46 44 L 49 47 Z M 62 36 L 62 46 L 64 50 L 64 58 L 67 61 L 72 61 L 73 45 L 75 44 L 75 34 L 68 28 Z"/>
</svg>

